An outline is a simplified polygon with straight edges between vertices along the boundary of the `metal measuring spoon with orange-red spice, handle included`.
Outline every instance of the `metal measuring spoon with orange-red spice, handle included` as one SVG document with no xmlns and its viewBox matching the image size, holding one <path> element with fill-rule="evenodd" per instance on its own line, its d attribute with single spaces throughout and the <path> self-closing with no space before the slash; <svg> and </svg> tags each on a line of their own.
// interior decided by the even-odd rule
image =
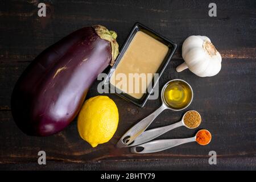
<svg viewBox="0 0 256 182">
<path fill-rule="evenodd" d="M 207 133 L 209 138 L 202 138 L 200 133 Z M 199 138 L 200 137 L 200 138 Z M 203 139 L 205 143 L 200 143 L 199 140 Z M 168 148 L 172 148 L 175 146 L 179 146 L 180 144 L 189 143 L 189 142 L 197 142 L 201 145 L 206 145 L 210 143 L 212 139 L 212 135 L 208 130 L 199 130 L 197 131 L 195 137 L 191 138 L 181 138 L 181 139 L 162 139 L 162 140 L 154 140 L 152 142 L 143 143 L 139 146 L 131 147 L 131 152 L 134 154 L 147 154 L 152 152 L 160 152 L 166 150 Z"/>
</svg>

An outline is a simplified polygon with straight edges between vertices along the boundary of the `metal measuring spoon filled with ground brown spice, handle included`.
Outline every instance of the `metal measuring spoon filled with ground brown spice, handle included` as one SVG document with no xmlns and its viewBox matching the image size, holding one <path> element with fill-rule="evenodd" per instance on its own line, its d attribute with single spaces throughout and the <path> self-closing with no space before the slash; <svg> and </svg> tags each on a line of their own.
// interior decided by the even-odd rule
<svg viewBox="0 0 256 182">
<path fill-rule="evenodd" d="M 193 125 L 190 125 L 189 127 L 188 126 L 189 123 L 192 123 Z M 181 121 L 179 122 L 176 122 L 172 125 L 158 127 L 155 129 L 144 131 L 141 135 L 139 135 L 139 137 L 135 138 L 134 142 L 129 144 L 128 147 L 137 146 L 138 144 L 141 144 L 141 143 L 146 143 L 156 137 L 159 137 L 164 133 L 167 133 L 167 131 L 176 129 L 177 127 L 180 127 L 180 126 L 185 126 L 188 129 L 195 129 L 200 125 L 200 123 L 201 123 L 201 115 L 195 110 L 189 110 L 183 115 Z"/>
</svg>

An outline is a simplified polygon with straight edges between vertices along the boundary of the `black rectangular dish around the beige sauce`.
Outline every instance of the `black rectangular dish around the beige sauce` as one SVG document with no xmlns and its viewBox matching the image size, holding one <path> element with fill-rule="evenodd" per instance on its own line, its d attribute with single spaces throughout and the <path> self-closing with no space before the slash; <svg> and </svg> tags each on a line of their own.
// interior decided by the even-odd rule
<svg viewBox="0 0 256 182">
<path fill-rule="evenodd" d="M 152 89 L 150 89 L 149 87 L 146 90 L 146 93 L 143 94 L 143 96 L 140 99 L 134 98 L 132 96 L 130 96 L 127 93 L 120 93 L 121 90 L 119 90 L 118 88 L 116 88 L 115 86 L 110 86 L 110 78 L 112 77 L 113 72 L 115 71 L 115 69 L 117 68 L 118 64 L 120 63 L 123 55 L 125 54 L 127 48 L 129 47 L 131 41 L 133 40 L 135 34 L 138 31 L 142 31 L 147 35 L 150 35 L 152 38 L 158 40 L 159 42 L 165 44 L 168 47 L 168 52 L 166 54 L 166 56 L 164 57 L 162 63 L 160 64 L 160 67 L 158 68 L 158 71 L 156 73 L 159 74 L 159 77 L 157 79 L 152 78 L 151 80 L 151 85 L 152 85 Z M 143 107 L 147 100 L 148 97 L 150 97 L 150 94 L 152 93 L 152 90 L 154 90 L 159 78 L 162 76 L 162 73 L 164 72 L 164 69 L 166 69 L 168 63 L 171 60 L 172 55 L 174 55 L 174 52 L 176 51 L 176 47 L 177 45 L 172 42 L 171 40 L 168 40 L 166 38 L 164 38 L 163 36 L 159 35 L 158 33 L 156 33 L 155 31 L 151 30 L 150 28 L 147 28 L 146 26 L 144 26 L 141 23 L 135 23 L 133 29 L 131 30 L 129 36 L 126 39 L 126 42 L 123 44 L 121 51 L 117 57 L 117 59 L 115 60 L 115 63 L 113 65 L 113 67 L 110 69 L 108 76 L 105 79 L 104 84 L 109 86 L 109 89 L 112 90 L 112 92 L 114 92 L 115 90 L 118 90 L 119 92 L 115 92 L 118 96 L 124 98 L 127 101 L 132 102 L 133 104 Z M 113 89 L 114 88 L 114 89 Z"/>
</svg>

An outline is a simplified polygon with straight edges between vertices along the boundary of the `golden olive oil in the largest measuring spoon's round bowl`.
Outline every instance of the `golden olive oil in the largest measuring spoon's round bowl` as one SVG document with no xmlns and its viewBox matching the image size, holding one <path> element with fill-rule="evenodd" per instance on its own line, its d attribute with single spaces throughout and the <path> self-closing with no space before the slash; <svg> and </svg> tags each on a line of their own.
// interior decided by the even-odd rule
<svg viewBox="0 0 256 182">
<path fill-rule="evenodd" d="M 191 102 L 191 98 L 191 88 L 179 80 L 171 81 L 164 91 L 164 100 L 173 109 L 183 109 Z"/>
</svg>

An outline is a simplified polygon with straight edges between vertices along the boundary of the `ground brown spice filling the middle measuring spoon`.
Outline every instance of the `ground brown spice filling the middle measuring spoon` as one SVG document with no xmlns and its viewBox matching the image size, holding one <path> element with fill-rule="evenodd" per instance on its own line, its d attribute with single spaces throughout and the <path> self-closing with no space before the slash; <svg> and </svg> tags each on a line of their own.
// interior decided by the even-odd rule
<svg viewBox="0 0 256 182">
<path fill-rule="evenodd" d="M 188 111 L 184 116 L 184 123 L 187 127 L 195 129 L 201 123 L 200 114 L 196 111 Z"/>
</svg>

